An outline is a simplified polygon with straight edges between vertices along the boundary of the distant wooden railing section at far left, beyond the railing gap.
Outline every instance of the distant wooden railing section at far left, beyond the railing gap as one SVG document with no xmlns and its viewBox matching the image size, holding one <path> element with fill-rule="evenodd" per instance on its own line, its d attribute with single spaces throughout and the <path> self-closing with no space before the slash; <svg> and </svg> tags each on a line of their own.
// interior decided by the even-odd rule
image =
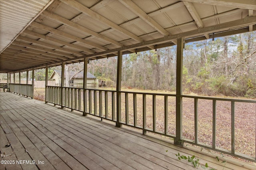
<svg viewBox="0 0 256 170">
<path fill-rule="evenodd" d="M 21 94 L 21 95 L 28 96 L 28 97 L 31 97 L 31 98 L 33 97 L 32 90 L 34 90 L 34 89 L 32 87 L 32 84 L 13 84 L 13 83 L 10 83 L 9 86 L 10 86 L 10 92 Z"/>
</svg>

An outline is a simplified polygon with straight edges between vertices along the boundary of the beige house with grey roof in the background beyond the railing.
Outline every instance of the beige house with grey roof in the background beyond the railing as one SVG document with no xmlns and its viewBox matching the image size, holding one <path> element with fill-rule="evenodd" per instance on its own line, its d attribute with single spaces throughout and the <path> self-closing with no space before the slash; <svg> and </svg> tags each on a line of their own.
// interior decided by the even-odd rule
<svg viewBox="0 0 256 170">
<path fill-rule="evenodd" d="M 72 77 L 76 72 L 72 71 L 70 72 L 70 77 Z M 54 70 L 50 78 L 52 80 L 55 80 L 55 85 L 60 86 L 61 85 L 61 71 L 60 70 Z M 84 71 L 79 72 L 70 80 L 70 87 L 83 87 L 83 77 L 84 77 Z M 64 75 L 64 82 L 66 82 L 65 75 Z M 98 87 L 98 79 L 92 75 L 90 72 L 87 72 L 87 88 L 90 87 Z"/>
</svg>

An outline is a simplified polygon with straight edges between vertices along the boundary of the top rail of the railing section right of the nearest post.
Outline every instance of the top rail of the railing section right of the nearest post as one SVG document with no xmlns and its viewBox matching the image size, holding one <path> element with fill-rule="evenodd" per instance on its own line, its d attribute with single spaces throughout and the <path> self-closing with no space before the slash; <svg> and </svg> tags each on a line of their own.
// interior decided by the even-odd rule
<svg viewBox="0 0 256 170">
<path fill-rule="evenodd" d="M 216 98 L 216 97 L 192 96 L 192 95 L 181 95 L 181 97 L 183 97 L 183 98 L 195 98 L 195 99 L 206 99 L 206 100 L 221 100 L 221 101 L 230 101 L 230 102 L 256 103 L 256 100 L 247 100 L 247 99 Z"/>
</svg>

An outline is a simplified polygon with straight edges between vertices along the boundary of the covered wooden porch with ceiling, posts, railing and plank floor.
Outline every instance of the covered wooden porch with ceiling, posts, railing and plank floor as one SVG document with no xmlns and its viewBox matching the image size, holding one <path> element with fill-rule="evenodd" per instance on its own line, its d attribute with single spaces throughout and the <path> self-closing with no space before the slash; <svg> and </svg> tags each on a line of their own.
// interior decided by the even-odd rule
<svg viewBox="0 0 256 170">
<path fill-rule="evenodd" d="M 194 169 L 192 160 L 185 159 L 188 156 L 195 156 L 208 169 L 256 169 L 230 158 L 256 162 L 256 100 L 191 96 L 183 90 L 186 44 L 256 31 L 256 0 L 148 2 L 0 0 L 0 11 L 5 14 L 0 15 L 0 73 L 7 74 L 8 91 L 15 93 L 0 93 L 4 160 L 0 170 Z M 121 88 L 124 55 L 159 52 L 170 46 L 175 49 L 174 72 L 168 74 L 173 77 L 173 93 Z M 111 66 L 115 76 L 111 90 L 88 88 L 88 64 L 109 58 L 116 59 L 116 66 Z M 207 61 L 206 55 L 203 58 Z M 241 55 L 241 61 L 247 58 Z M 69 65 L 78 63 L 83 64 L 79 68 L 84 71 L 83 87 L 66 86 L 64 73 Z M 48 74 L 56 66 L 61 66 L 63 76 L 60 86 L 50 86 Z M 34 100 L 37 69 L 45 69 L 45 103 Z M 22 84 L 23 72 L 26 84 Z M 208 104 L 202 105 L 202 101 Z M 252 109 L 244 111 L 248 104 Z M 202 112 L 202 107 L 207 111 Z M 220 107 L 226 110 L 224 123 Z M 201 123 L 203 114 L 209 118 L 206 124 Z M 237 122 L 244 119 L 237 119 L 238 115 L 249 117 L 249 123 L 239 127 Z M 188 129 L 185 123 L 192 126 Z M 220 124 L 226 128 L 220 129 Z M 200 134 L 204 129 L 208 131 L 206 141 Z M 220 137 L 218 131 L 226 135 Z M 237 131 L 250 132 L 250 137 L 237 135 Z M 244 152 L 247 141 L 251 142 L 250 153 Z"/>
</svg>

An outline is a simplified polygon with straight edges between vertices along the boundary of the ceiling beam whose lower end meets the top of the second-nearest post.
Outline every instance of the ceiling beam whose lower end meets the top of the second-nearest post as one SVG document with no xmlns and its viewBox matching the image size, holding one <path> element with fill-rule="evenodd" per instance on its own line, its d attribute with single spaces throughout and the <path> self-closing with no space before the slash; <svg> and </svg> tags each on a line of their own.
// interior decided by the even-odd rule
<svg viewBox="0 0 256 170">
<path fill-rule="evenodd" d="M 81 26 L 81 25 L 79 25 L 79 24 L 77 24 L 77 23 L 75 23 L 75 22 L 72 22 L 72 21 L 70 21 L 70 20 L 67 20 L 67 19 L 65 19 L 65 18 L 62 18 L 61 16 L 58 16 L 58 15 L 56 15 L 56 14 L 53 14 L 53 13 L 48 12 L 48 11 L 44 11 L 44 12 L 42 13 L 42 15 L 45 16 L 45 17 L 47 17 L 47 18 L 50 18 L 51 20 L 58 21 L 58 22 L 60 22 L 60 23 L 62 23 L 62 24 L 64 24 L 64 25 L 67 25 L 67 26 L 69 26 L 69 27 L 72 27 L 72 28 L 74 28 L 74 29 L 77 29 L 77 30 L 79 30 L 79 31 L 83 31 L 84 33 L 88 33 L 88 34 L 90 34 L 90 35 L 92 35 L 92 36 L 94 36 L 94 37 L 97 37 L 97 38 L 99 38 L 99 39 L 101 39 L 101 40 L 104 40 L 104 41 L 106 41 L 106 42 L 108 42 L 108 43 L 112 43 L 112 44 L 114 44 L 114 45 L 117 45 L 117 46 L 119 46 L 119 47 L 122 47 L 122 44 L 121 44 L 121 43 L 118 43 L 117 41 L 115 41 L 115 40 L 113 40 L 113 39 L 111 39 L 111 38 L 108 38 L 108 37 L 106 37 L 106 36 L 104 36 L 104 35 L 101 35 L 101 34 L 99 34 L 99 33 L 96 33 L 96 32 L 94 32 L 94 31 L 92 31 L 92 30 L 90 30 L 90 29 L 88 29 L 88 28 L 86 28 L 86 27 L 83 27 L 83 26 Z"/>
</svg>

